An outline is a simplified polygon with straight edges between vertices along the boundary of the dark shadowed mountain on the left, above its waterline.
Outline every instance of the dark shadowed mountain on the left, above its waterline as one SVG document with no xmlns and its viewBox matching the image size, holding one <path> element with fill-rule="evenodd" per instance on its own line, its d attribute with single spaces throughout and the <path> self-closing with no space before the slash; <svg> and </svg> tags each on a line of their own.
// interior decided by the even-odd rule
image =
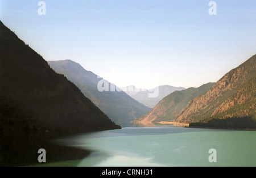
<svg viewBox="0 0 256 178">
<path fill-rule="evenodd" d="M 119 129 L 0 22 L 0 135 Z"/>
</svg>

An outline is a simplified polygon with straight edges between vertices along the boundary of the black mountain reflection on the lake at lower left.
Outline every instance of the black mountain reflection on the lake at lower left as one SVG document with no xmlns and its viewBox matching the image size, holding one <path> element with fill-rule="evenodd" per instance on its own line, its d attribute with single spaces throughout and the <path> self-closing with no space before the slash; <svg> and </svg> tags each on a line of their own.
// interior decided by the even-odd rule
<svg viewBox="0 0 256 178">
<path fill-rule="evenodd" d="M 0 143 L 0 166 L 77 166 L 90 154 L 86 149 L 57 145 L 39 135 L 11 135 L 1 138 Z M 38 162 L 39 149 L 46 150 L 47 163 Z"/>
</svg>

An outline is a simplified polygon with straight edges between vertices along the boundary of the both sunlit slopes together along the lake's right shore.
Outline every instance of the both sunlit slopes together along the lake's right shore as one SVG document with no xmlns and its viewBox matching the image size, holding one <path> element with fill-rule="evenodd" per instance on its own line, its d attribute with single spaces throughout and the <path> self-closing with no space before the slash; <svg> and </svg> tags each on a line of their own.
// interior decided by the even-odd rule
<svg viewBox="0 0 256 178">
<path fill-rule="evenodd" d="M 256 128 L 256 55 L 217 83 L 175 91 L 135 122 L 210 128 Z"/>
</svg>

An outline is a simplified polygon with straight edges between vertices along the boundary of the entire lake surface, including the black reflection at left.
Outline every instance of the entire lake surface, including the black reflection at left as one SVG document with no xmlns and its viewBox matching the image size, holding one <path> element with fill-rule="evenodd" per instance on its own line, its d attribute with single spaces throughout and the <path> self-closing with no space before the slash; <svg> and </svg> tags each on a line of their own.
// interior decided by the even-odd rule
<svg viewBox="0 0 256 178">
<path fill-rule="evenodd" d="M 255 131 L 155 126 L 51 142 L 17 138 L 1 142 L 9 145 L 0 146 L 0 166 L 256 166 L 255 136 Z M 47 163 L 38 163 L 41 148 Z M 209 149 L 216 149 L 216 163 L 209 162 Z"/>
</svg>

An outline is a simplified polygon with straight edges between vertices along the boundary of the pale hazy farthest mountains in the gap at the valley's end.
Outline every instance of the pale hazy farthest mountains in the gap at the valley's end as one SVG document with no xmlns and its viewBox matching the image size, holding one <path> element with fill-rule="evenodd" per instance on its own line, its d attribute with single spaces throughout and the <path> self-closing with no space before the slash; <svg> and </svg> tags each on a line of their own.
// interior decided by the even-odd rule
<svg viewBox="0 0 256 178">
<path fill-rule="evenodd" d="M 139 101 L 139 103 L 142 103 L 149 108 L 155 107 L 155 105 L 158 104 L 160 100 L 172 92 L 185 90 L 184 87 L 173 87 L 169 85 L 158 86 L 150 90 L 141 88 L 138 89 L 134 86 L 122 87 L 121 89 L 125 91 L 126 94 L 130 95 L 131 98 Z M 150 95 L 152 95 L 152 97 Z"/>
</svg>

